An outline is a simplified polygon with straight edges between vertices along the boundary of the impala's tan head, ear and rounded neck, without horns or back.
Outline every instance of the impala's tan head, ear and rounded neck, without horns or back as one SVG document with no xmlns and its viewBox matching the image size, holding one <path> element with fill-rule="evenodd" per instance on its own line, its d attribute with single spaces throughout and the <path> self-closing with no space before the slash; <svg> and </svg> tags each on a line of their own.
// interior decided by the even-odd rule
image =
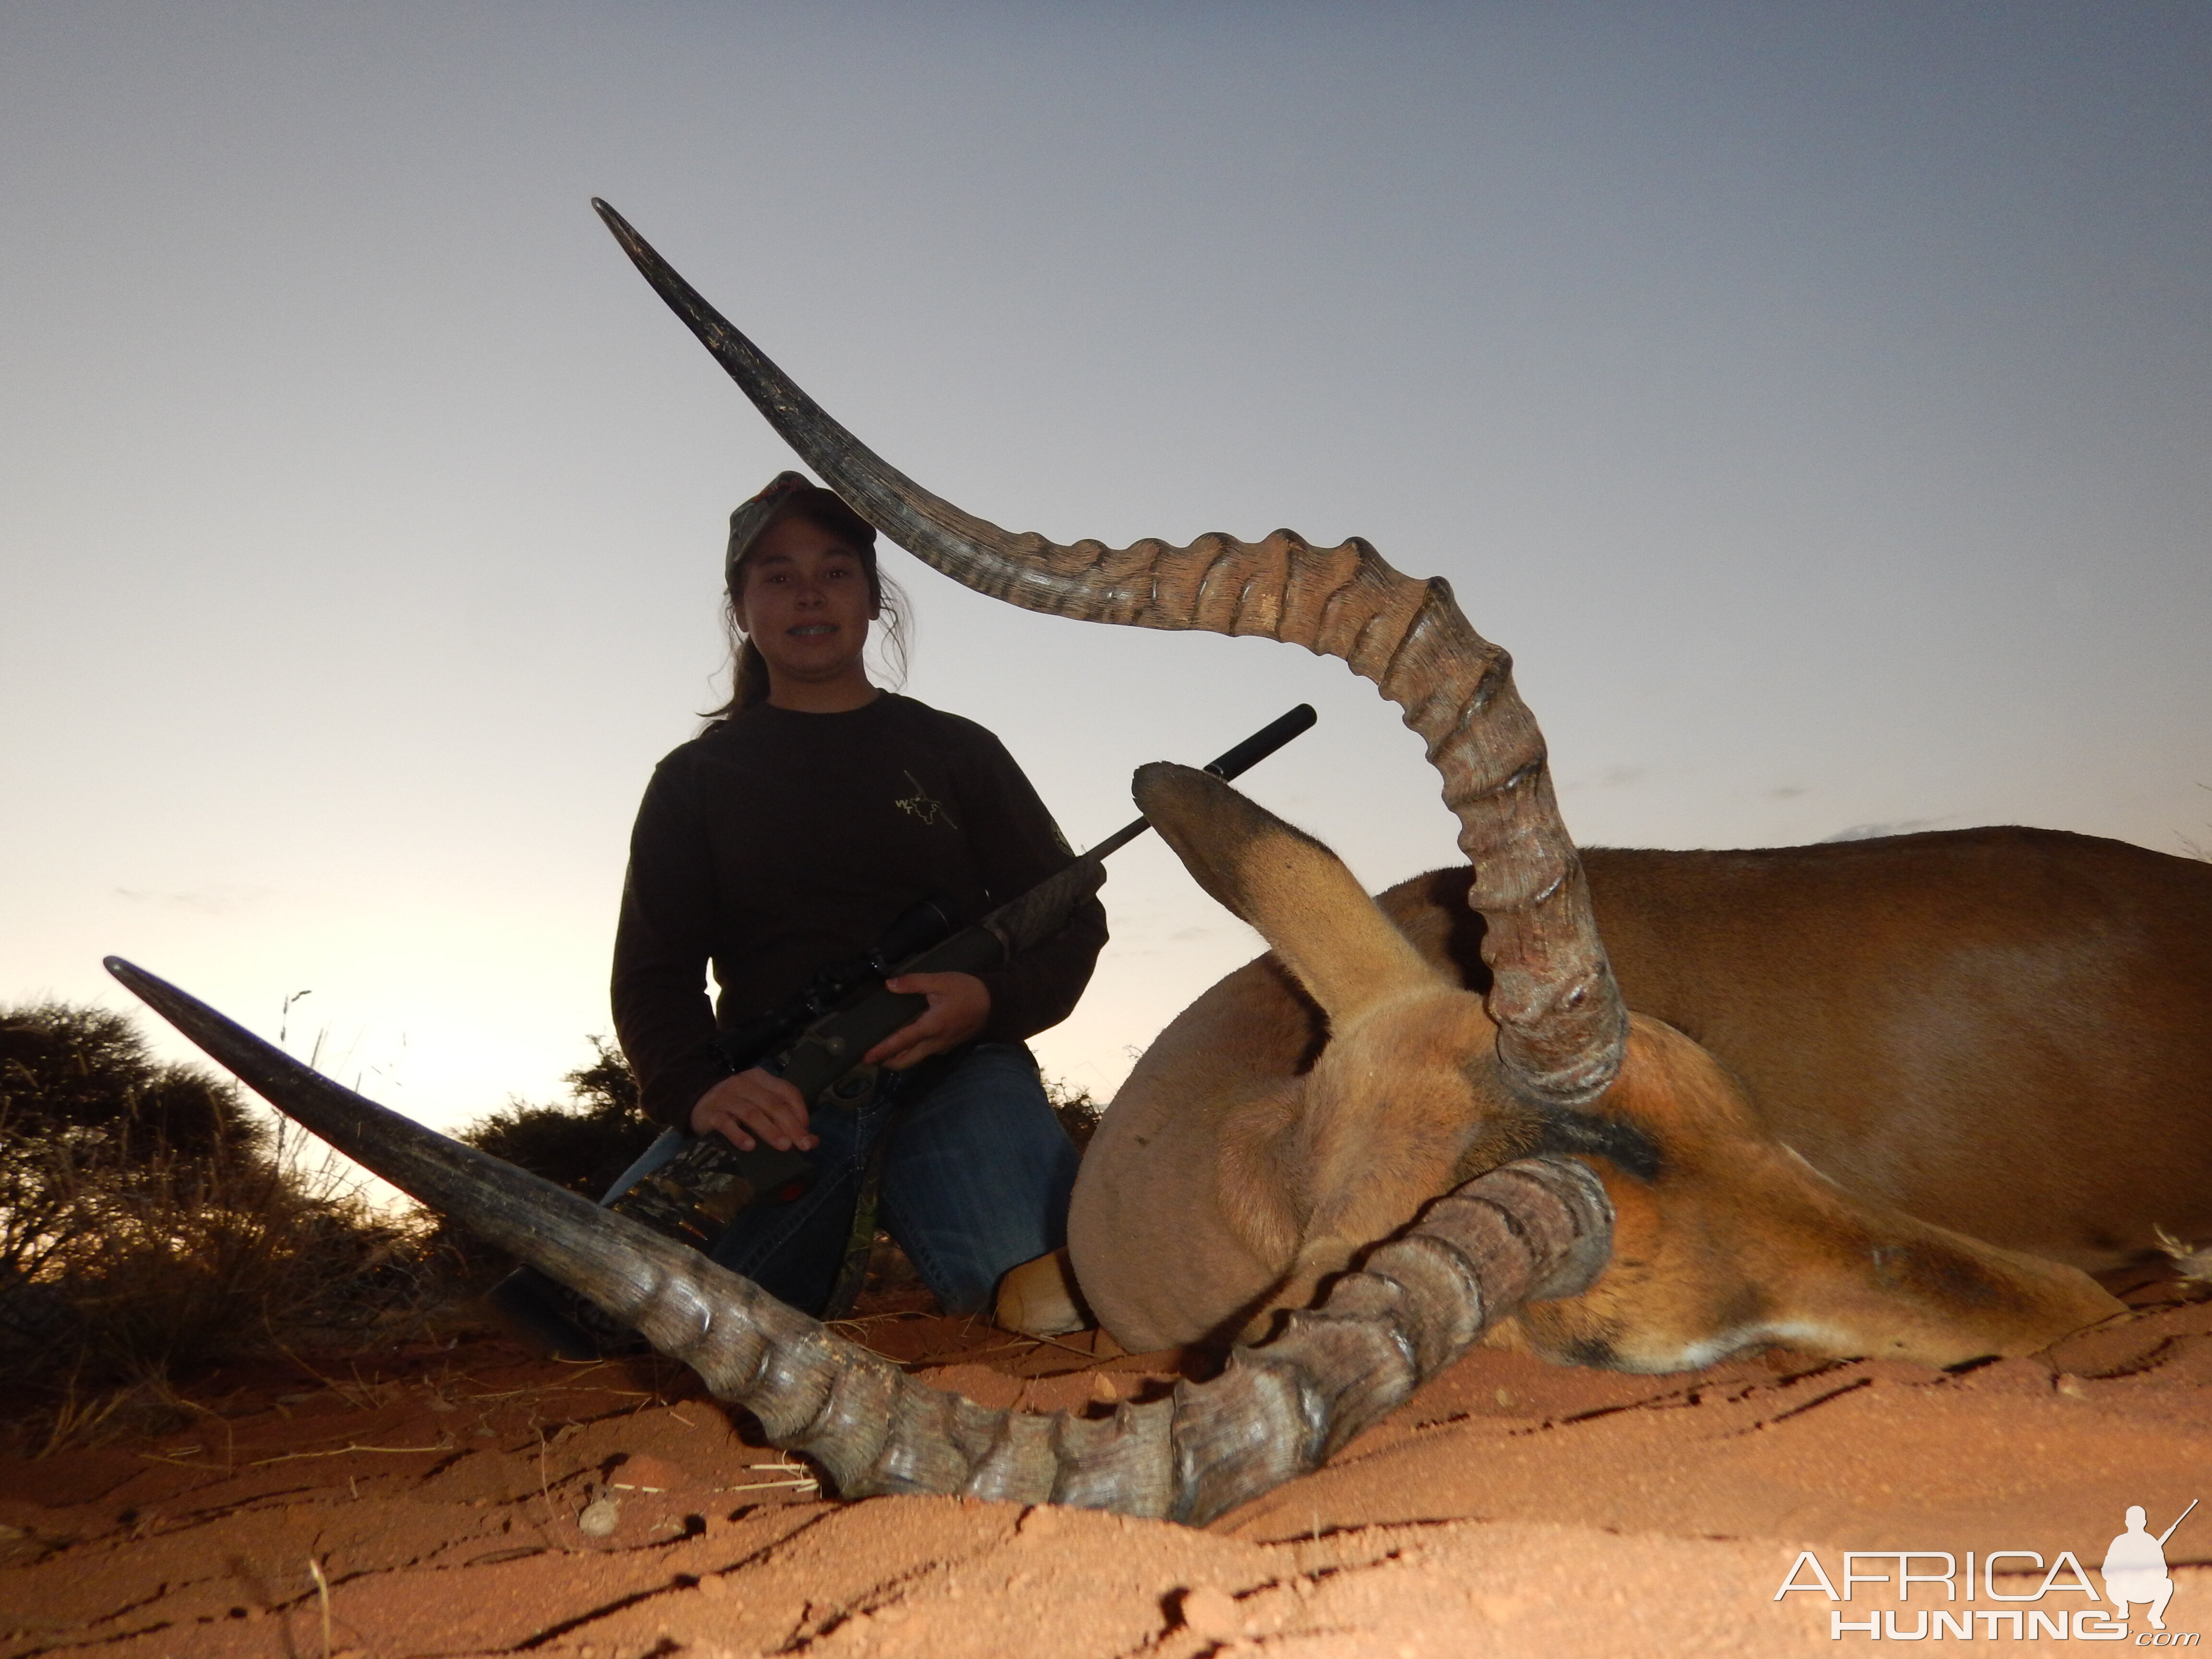
<svg viewBox="0 0 2212 1659">
<path fill-rule="evenodd" d="M 1274 951 L 1168 1026 L 1086 1157 L 1071 1256 L 1124 1345 L 1250 1340 L 1427 1197 L 1540 1148 L 1588 1157 L 1617 1210 L 1597 1285 L 1493 1334 L 1555 1360 L 1666 1371 L 1781 1340 L 1949 1365 L 2031 1352 L 2117 1312 L 2073 1267 L 1827 1179 L 1776 1139 L 1723 1064 L 1644 1015 L 1617 1082 L 1586 1108 L 1635 1135 L 1619 1157 L 1584 1150 L 1588 1124 L 1522 1104 L 1493 1075 L 1491 1026 L 1464 989 L 1480 958 L 1453 872 L 1378 907 L 1325 847 L 1203 774 L 1146 768 L 1139 801 Z M 1663 865 L 1628 856 L 1639 858 Z M 1632 891 L 1608 874 L 1632 872 L 1593 858 L 1601 925 L 1608 900 Z M 1803 929 L 1794 938 L 1803 951 Z M 1615 960 L 1635 1006 L 1644 964 L 1635 949 Z M 1690 995 L 1679 982 L 1672 993 Z M 1787 1037 L 1770 1033 L 1770 1046 L 1787 1051 Z M 1918 1108 L 1922 1135 L 1940 1137 L 1940 1102 L 1887 1106 L 1887 1119 Z M 1887 1121 L 1876 1106 L 1860 1117 Z M 1657 1168 L 1635 1168 L 1637 1139 Z M 2033 1161 L 2068 1164 L 2057 1148 Z M 2124 1161 L 2141 1170 L 2157 1155 Z M 1975 1188 L 1960 1206 L 1980 1199 Z M 2013 1230 L 2035 1234 L 2017 1206 Z"/>
</svg>

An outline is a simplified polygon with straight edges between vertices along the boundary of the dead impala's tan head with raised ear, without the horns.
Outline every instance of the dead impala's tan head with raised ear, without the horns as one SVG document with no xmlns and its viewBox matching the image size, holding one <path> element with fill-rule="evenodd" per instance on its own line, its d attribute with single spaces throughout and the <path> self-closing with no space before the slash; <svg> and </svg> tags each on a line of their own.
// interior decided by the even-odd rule
<svg viewBox="0 0 2212 1659">
<path fill-rule="evenodd" d="M 1290 1237 L 1261 1250 L 1283 1263 L 1276 1283 L 1230 1318 L 1248 1340 L 1429 1194 L 1531 1152 L 1588 1159 L 1617 1217 L 1613 1263 L 1588 1292 L 1531 1305 L 1493 1338 L 1559 1363 L 1679 1371 L 1787 1343 L 1951 1365 L 2026 1354 L 2117 1310 L 2070 1267 L 1847 1197 L 1765 1133 L 1712 1055 L 1657 1020 L 1630 1020 L 1626 1062 L 1597 1102 L 1531 1104 L 1498 1075 L 1482 1002 L 1327 847 L 1188 768 L 1144 768 L 1137 801 L 1327 1022 L 1312 1068 L 1283 1079 L 1279 1166 L 1296 1190 Z M 1106 1312 L 1128 1267 L 1095 1276 L 1086 1290 Z M 1181 1301 L 1188 1314 L 1188 1285 Z"/>
</svg>

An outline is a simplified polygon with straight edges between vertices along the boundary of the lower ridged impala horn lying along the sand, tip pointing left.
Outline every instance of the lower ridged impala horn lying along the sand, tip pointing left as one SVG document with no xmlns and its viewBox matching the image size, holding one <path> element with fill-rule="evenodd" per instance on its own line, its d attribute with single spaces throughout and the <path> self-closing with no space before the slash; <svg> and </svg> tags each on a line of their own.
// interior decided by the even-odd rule
<svg viewBox="0 0 2212 1659">
<path fill-rule="evenodd" d="M 1588 1168 L 1522 1159 L 1431 1203 L 1323 1307 L 1237 1349 L 1210 1383 L 1110 1418 L 998 1411 L 916 1383 L 672 1239 L 341 1088 L 131 962 L 106 967 L 272 1106 L 690 1365 L 845 1498 L 971 1493 L 1203 1524 L 1314 1469 L 1522 1301 L 1586 1290 L 1613 1241 Z"/>
</svg>

